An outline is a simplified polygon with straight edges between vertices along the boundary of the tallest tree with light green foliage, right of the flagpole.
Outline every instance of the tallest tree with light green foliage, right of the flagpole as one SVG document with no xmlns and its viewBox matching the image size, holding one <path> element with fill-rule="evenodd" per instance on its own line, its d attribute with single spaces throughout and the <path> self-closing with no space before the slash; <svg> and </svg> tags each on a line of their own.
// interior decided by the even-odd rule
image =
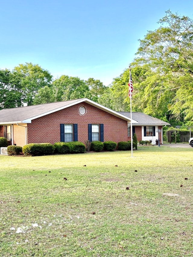
<svg viewBox="0 0 193 257">
<path fill-rule="evenodd" d="M 149 91 L 146 102 L 152 102 L 151 89 L 157 89 L 152 102 L 154 107 L 159 109 L 158 103 L 164 103 L 169 115 L 172 114 L 179 121 L 192 120 L 193 20 L 172 14 L 169 10 L 158 23 L 165 26 L 148 31 L 140 40 L 137 52 L 140 57 L 135 59 L 138 65 L 148 64 L 154 74 L 144 82 Z"/>
</svg>

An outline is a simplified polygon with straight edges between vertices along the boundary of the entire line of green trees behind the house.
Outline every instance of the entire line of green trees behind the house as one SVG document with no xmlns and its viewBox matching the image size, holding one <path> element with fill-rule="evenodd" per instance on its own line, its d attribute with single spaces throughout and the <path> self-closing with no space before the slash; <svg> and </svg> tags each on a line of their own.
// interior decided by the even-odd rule
<svg viewBox="0 0 193 257">
<path fill-rule="evenodd" d="M 175 125 L 193 125 L 193 20 L 170 10 L 160 27 L 140 39 L 131 63 L 132 111 Z M 130 111 L 129 69 L 107 87 L 100 80 L 62 75 L 53 80 L 38 64 L 0 70 L 0 108 L 87 97 L 115 111 Z"/>
</svg>

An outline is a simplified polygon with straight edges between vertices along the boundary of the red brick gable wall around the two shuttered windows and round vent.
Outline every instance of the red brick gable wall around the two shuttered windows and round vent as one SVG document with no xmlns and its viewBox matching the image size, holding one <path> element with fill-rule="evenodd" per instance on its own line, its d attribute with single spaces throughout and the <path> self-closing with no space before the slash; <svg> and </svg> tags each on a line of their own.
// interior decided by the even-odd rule
<svg viewBox="0 0 193 257">
<path fill-rule="evenodd" d="M 86 114 L 81 116 L 79 107 L 84 106 Z M 104 141 L 116 143 L 127 141 L 127 121 L 115 117 L 87 103 L 77 104 L 61 111 L 48 114 L 27 124 L 27 143 L 60 142 L 60 124 L 78 124 L 78 141 L 88 139 L 88 124 L 104 124 Z"/>
</svg>

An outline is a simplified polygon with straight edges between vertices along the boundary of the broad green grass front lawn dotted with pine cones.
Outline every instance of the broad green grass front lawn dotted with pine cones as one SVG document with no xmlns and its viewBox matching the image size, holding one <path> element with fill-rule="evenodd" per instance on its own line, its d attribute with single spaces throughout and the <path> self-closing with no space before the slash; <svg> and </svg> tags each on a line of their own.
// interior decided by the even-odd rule
<svg viewBox="0 0 193 257">
<path fill-rule="evenodd" d="M 0 155 L 0 256 L 193 256 L 192 150 Z"/>
</svg>

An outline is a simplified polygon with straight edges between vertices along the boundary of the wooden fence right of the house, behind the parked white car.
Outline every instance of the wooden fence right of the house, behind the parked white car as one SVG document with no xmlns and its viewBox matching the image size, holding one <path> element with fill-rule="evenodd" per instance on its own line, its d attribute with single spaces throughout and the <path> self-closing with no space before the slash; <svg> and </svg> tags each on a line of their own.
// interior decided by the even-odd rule
<svg viewBox="0 0 193 257">
<path fill-rule="evenodd" d="M 166 131 L 166 135 L 168 143 L 186 143 L 190 137 L 193 137 L 193 133 L 181 134 L 178 130 Z"/>
</svg>

